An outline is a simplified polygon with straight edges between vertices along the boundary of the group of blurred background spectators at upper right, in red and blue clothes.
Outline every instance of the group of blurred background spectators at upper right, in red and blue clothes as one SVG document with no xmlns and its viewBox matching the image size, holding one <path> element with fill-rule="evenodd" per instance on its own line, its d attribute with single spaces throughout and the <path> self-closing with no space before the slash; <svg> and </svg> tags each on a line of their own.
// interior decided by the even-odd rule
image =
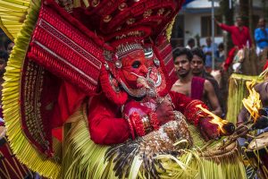
<svg viewBox="0 0 268 179">
<path fill-rule="evenodd" d="M 258 27 L 254 31 L 254 37 L 250 36 L 249 30 L 243 25 L 241 17 L 237 17 L 236 24 L 232 26 L 226 25 L 216 19 L 215 22 L 222 30 L 230 33 L 233 47 L 230 48 L 230 51 L 226 53 L 227 55 L 225 56 L 223 43 L 220 43 L 219 45 L 215 43 L 212 44 L 212 39 L 210 37 L 205 38 L 205 45 L 201 46 L 201 48 L 205 53 L 205 69 L 207 72 L 211 72 L 212 70 L 213 51 L 215 69 L 227 71 L 239 49 L 254 47 L 255 53 L 260 55 L 264 51 L 264 48 L 268 47 L 268 28 L 266 28 L 266 21 L 264 18 L 259 19 Z M 255 45 L 252 38 L 254 38 Z M 195 39 L 189 38 L 186 47 L 189 49 L 196 47 Z"/>
</svg>

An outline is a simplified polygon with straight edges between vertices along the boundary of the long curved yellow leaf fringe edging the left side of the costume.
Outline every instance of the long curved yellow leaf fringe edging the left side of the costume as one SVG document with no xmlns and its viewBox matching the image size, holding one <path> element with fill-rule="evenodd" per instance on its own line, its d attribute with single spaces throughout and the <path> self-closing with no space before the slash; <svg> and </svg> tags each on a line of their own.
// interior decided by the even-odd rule
<svg viewBox="0 0 268 179">
<path fill-rule="evenodd" d="M 21 4 L 14 5 L 14 7 L 21 8 L 21 5 L 27 4 L 28 1 L 6 0 L 3 2 L 10 2 L 8 4 L 20 2 Z M 11 148 L 21 163 L 28 166 L 31 170 L 38 172 L 40 175 L 48 178 L 58 178 L 61 166 L 53 158 L 46 158 L 46 156 L 38 152 L 28 141 L 21 129 L 21 106 L 19 103 L 21 68 L 29 47 L 31 33 L 38 20 L 40 4 L 40 0 L 37 0 L 30 5 L 27 20 L 22 25 L 21 31 L 15 39 L 15 47 L 13 47 L 12 55 L 6 67 L 4 74 L 5 82 L 3 84 L 4 120 Z"/>
</svg>

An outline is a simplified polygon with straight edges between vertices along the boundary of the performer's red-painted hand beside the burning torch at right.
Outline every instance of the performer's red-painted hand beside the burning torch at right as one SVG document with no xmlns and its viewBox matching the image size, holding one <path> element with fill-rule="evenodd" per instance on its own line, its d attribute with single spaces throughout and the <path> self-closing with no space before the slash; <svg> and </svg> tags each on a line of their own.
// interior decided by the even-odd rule
<svg viewBox="0 0 268 179">
<path fill-rule="evenodd" d="M 199 121 L 200 132 L 205 138 L 205 141 L 217 139 L 220 137 L 220 130 L 217 124 L 210 123 L 211 118 L 201 118 Z"/>
</svg>

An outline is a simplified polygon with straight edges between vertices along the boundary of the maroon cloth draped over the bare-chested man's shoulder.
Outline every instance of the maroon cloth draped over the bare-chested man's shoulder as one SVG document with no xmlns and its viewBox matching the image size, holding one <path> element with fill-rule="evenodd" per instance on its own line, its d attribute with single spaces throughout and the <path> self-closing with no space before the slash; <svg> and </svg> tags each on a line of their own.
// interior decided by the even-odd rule
<svg viewBox="0 0 268 179">
<path fill-rule="evenodd" d="M 202 100 L 205 79 L 194 76 L 191 81 L 191 98 Z"/>
</svg>

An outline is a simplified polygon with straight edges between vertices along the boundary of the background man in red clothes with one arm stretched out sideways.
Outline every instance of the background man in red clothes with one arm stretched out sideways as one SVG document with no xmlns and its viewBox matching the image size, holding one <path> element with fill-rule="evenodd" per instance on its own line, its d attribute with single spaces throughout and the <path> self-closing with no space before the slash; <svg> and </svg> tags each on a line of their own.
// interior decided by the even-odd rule
<svg viewBox="0 0 268 179">
<path fill-rule="evenodd" d="M 229 68 L 230 64 L 232 63 L 236 51 L 243 47 L 247 47 L 247 41 L 249 47 L 251 47 L 252 41 L 248 28 L 246 26 L 243 26 L 243 21 L 241 17 L 237 17 L 236 25 L 233 26 L 228 26 L 224 23 L 217 21 L 216 19 L 215 22 L 222 30 L 230 32 L 232 43 L 234 45 L 234 47 L 230 49 L 228 56 L 225 59 L 224 70 L 226 71 Z"/>
</svg>

